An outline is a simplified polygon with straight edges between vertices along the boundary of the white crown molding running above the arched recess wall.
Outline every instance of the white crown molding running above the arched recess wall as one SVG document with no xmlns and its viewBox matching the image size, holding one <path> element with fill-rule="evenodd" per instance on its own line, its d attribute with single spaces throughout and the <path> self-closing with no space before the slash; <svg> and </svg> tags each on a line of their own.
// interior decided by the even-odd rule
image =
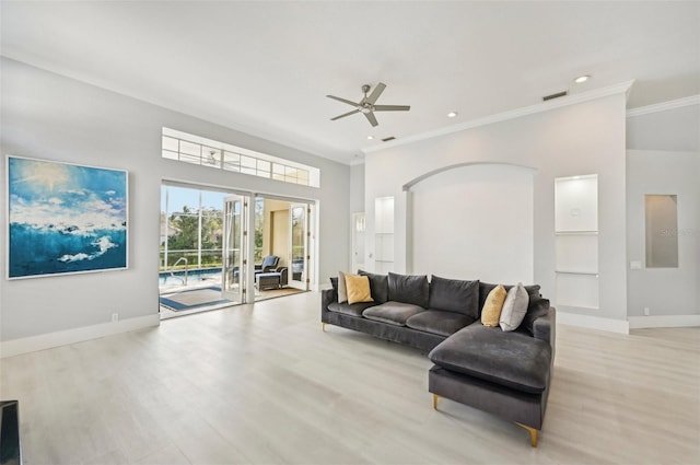
<svg viewBox="0 0 700 465">
<path fill-rule="evenodd" d="M 483 118 L 472 119 L 470 121 L 462 123 L 458 125 L 447 126 L 432 131 L 418 133 L 407 138 L 400 138 L 396 141 L 385 142 L 382 146 L 374 146 L 363 149 L 364 153 L 378 152 L 384 149 L 393 147 L 405 146 L 407 143 L 419 142 L 422 140 L 433 139 L 441 136 L 446 136 L 453 132 L 459 132 L 467 129 L 478 128 L 480 126 L 492 125 L 493 123 L 506 121 L 509 119 L 522 118 L 523 116 L 534 115 L 537 113 L 549 112 L 551 109 L 561 108 L 569 105 L 576 105 L 583 102 L 606 97 L 608 95 L 615 95 L 625 93 L 626 100 L 629 96 L 629 91 L 632 88 L 632 81 L 621 82 L 619 84 L 609 85 L 606 88 L 595 89 L 588 92 L 582 92 L 580 94 L 567 95 L 560 98 L 550 100 L 539 103 L 537 105 L 525 106 L 509 112 L 497 113 L 495 115 L 486 116 Z"/>
</svg>

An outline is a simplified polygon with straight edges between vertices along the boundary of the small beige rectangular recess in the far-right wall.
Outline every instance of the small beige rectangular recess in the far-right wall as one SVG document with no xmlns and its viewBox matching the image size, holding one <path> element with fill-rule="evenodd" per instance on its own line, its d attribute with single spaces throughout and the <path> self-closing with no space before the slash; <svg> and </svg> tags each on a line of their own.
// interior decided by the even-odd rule
<svg viewBox="0 0 700 465">
<path fill-rule="evenodd" d="M 645 195 L 646 268 L 678 268 L 678 198 Z"/>
</svg>

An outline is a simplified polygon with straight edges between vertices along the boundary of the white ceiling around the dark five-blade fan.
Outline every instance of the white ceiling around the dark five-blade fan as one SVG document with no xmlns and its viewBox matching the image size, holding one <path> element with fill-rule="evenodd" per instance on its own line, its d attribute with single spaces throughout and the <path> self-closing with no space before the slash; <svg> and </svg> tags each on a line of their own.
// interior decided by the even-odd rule
<svg viewBox="0 0 700 465">
<path fill-rule="evenodd" d="M 629 107 L 700 93 L 700 2 L 5 1 L 1 53 L 351 163 L 416 136 L 635 80 Z M 593 78 L 584 84 L 572 81 Z M 407 113 L 330 118 L 362 84 Z M 459 113 L 448 119 L 447 112 Z M 187 128 L 178 128 L 186 130 Z M 375 140 L 368 140 L 373 135 Z"/>
</svg>

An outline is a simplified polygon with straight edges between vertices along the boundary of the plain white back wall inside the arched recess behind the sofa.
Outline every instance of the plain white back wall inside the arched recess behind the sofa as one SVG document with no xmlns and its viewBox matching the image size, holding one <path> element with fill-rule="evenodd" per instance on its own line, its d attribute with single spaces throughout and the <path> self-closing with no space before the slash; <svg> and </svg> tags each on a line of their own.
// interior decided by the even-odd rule
<svg viewBox="0 0 700 465">
<path fill-rule="evenodd" d="M 476 164 L 411 187 L 407 271 L 532 283 L 533 176 L 520 166 Z"/>
</svg>

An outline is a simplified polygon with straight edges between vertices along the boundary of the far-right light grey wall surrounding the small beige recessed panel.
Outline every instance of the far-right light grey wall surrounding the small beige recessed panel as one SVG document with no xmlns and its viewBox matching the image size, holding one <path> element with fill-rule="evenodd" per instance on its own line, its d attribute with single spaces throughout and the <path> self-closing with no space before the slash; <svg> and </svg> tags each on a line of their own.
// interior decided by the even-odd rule
<svg viewBox="0 0 700 465">
<path fill-rule="evenodd" d="M 628 313 L 637 325 L 656 316 L 700 314 L 700 105 L 628 117 Z M 644 267 L 644 194 L 678 195 L 678 268 Z M 643 309 L 652 318 L 641 318 Z M 662 322 L 682 322 L 672 318 Z M 698 319 L 689 319 L 696 322 Z"/>
</svg>

